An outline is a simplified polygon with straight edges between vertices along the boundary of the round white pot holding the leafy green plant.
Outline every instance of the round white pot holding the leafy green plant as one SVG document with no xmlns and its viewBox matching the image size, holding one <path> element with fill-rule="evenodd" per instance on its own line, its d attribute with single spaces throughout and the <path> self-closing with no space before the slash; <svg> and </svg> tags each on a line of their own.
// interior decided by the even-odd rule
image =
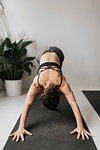
<svg viewBox="0 0 100 150">
<path fill-rule="evenodd" d="M 8 96 L 20 96 L 22 92 L 22 79 L 5 80 L 5 88 Z"/>
</svg>

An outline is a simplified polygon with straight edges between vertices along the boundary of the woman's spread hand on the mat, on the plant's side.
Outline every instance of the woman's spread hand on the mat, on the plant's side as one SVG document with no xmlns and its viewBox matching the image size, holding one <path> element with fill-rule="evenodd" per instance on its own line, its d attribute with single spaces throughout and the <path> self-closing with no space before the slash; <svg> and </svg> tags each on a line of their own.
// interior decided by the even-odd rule
<svg viewBox="0 0 100 150">
<path fill-rule="evenodd" d="M 18 142 L 21 137 L 22 141 L 24 141 L 24 134 L 28 134 L 28 135 L 32 136 L 32 134 L 30 132 L 28 132 L 27 130 L 25 130 L 24 128 L 23 129 L 18 128 L 18 130 L 16 132 L 12 133 L 11 135 L 9 135 L 8 138 L 11 136 L 14 136 L 12 141 L 16 140 L 16 142 Z"/>
</svg>

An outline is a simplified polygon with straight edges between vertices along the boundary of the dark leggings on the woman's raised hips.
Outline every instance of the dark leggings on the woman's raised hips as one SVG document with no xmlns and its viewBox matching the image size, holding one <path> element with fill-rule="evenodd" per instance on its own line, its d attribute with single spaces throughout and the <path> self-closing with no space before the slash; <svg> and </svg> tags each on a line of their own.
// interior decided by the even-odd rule
<svg viewBox="0 0 100 150">
<path fill-rule="evenodd" d="M 49 49 L 48 48 L 44 48 L 42 50 L 40 50 L 37 55 L 36 55 L 36 60 L 38 63 L 40 63 L 40 58 L 41 56 L 46 52 L 46 51 L 49 51 L 49 52 L 55 52 L 57 54 L 57 56 L 59 57 L 60 59 L 60 66 L 62 66 L 62 63 L 63 63 L 63 60 L 64 60 L 64 54 L 62 52 L 61 49 L 59 49 L 58 47 L 54 47 L 54 46 L 50 46 Z"/>
</svg>

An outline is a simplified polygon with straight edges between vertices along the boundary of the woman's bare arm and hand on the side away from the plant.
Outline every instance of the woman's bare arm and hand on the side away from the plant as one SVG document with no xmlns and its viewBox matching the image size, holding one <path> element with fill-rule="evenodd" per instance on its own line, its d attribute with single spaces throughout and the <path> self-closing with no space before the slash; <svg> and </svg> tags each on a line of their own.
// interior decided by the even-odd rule
<svg viewBox="0 0 100 150">
<path fill-rule="evenodd" d="M 77 102 L 75 100 L 73 91 L 72 91 L 71 87 L 69 86 L 69 84 L 67 83 L 64 76 L 63 76 L 62 85 L 60 87 L 60 91 L 65 95 L 68 103 L 70 104 L 70 106 L 73 110 L 74 116 L 76 118 L 77 128 L 75 130 L 73 130 L 72 132 L 70 132 L 70 134 L 78 132 L 77 139 L 79 139 L 81 135 L 82 135 L 83 140 L 85 139 L 85 136 L 87 139 L 89 139 L 88 135 L 90 135 L 90 136 L 92 136 L 92 135 L 89 132 L 87 132 L 83 127 L 80 109 L 79 109 Z"/>
</svg>

